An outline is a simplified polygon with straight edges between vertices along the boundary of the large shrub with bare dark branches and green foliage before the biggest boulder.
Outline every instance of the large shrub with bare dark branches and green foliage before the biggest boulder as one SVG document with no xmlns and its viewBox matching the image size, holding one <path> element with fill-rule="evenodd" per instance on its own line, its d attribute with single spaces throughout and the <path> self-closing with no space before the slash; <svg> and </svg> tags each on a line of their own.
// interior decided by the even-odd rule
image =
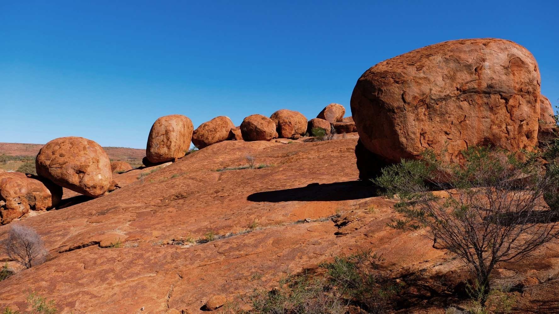
<svg viewBox="0 0 559 314">
<path fill-rule="evenodd" d="M 540 199 L 557 193 L 559 177 L 542 172 L 532 153 L 471 147 L 462 156 L 462 166 L 448 165 L 427 152 L 420 160 L 387 166 L 373 182 L 401 200 L 394 208 L 404 218 L 390 226 L 428 227 L 427 237 L 473 270 L 476 295 L 484 306 L 497 263 L 521 260 L 558 235 L 557 212 Z"/>
</svg>

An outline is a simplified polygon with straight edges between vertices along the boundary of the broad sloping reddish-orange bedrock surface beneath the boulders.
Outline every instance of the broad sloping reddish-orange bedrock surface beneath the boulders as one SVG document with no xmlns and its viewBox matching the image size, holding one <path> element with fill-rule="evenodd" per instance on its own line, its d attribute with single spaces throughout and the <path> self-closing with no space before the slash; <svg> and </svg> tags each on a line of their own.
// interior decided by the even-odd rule
<svg viewBox="0 0 559 314">
<path fill-rule="evenodd" d="M 23 221 L 41 235 L 51 259 L 2 280 L 0 309 L 23 312 L 31 290 L 53 299 L 61 314 L 201 314 L 211 296 L 269 291 L 286 273 L 362 250 L 382 254 L 391 273 L 467 273 L 418 232 L 386 226 L 400 217 L 395 201 L 357 181 L 356 144 L 224 141 L 154 172 L 116 175 L 146 174 L 105 197 Z M 215 171 L 244 165 L 247 155 L 273 166 Z M 305 218 L 310 222 L 301 223 Z M 253 222 L 258 228 L 250 231 Z M 8 230 L 0 226 L 0 240 Z M 186 240 L 201 240 L 209 231 L 228 236 Z M 121 248 L 101 248 L 119 239 Z M 558 257 L 559 245 L 552 242 L 504 267 L 543 276 L 557 268 Z M 557 286 L 551 287 L 554 294 L 537 293 L 542 303 L 528 302 L 531 293 L 519 294 L 519 303 L 548 306 L 543 296 L 557 299 Z"/>
</svg>

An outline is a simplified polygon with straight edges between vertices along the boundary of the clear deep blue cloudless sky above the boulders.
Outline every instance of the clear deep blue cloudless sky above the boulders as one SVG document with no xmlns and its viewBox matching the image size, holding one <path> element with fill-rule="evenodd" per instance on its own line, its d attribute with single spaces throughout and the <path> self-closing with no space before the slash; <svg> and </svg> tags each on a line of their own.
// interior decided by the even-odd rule
<svg viewBox="0 0 559 314">
<path fill-rule="evenodd" d="M 361 74 L 437 42 L 530 50 L 559 99 L 557 1 L 0 0 L 0 142 L 83 136 L 145 148 L 151 124 L 287 108 L 349 112 Z M 347 113 L 350 115 L 350 113 Z"/>
</svg>

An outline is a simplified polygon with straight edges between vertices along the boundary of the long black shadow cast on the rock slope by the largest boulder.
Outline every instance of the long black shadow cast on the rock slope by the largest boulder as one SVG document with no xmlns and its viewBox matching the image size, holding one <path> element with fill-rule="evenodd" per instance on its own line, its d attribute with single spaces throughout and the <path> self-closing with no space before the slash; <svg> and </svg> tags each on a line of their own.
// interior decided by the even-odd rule
<svg viewBox="0 0 559 314">
<path fill-rule="evenodd" d="M 258 192 L 247 197 L 251 202 L 288 202 L 288 201 L 348 201 L 378 196 L 370 184 L 355 180 L 334 183 L 311 183 L 306 187 Z"/>
</svg>

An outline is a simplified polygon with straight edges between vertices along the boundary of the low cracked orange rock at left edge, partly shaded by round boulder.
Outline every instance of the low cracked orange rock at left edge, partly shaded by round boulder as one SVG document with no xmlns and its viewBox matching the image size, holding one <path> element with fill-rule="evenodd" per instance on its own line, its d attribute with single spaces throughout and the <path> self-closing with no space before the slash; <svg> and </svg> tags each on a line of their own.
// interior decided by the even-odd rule
<svg viewBox="0 0 559 314">
<path fill-rule="evenodd" d="M 30 210 L 44 211 L 62 199 L 62 187 L 20 172 L 0 173 L 0 224 L 20 218 Z"/>
</svg>

